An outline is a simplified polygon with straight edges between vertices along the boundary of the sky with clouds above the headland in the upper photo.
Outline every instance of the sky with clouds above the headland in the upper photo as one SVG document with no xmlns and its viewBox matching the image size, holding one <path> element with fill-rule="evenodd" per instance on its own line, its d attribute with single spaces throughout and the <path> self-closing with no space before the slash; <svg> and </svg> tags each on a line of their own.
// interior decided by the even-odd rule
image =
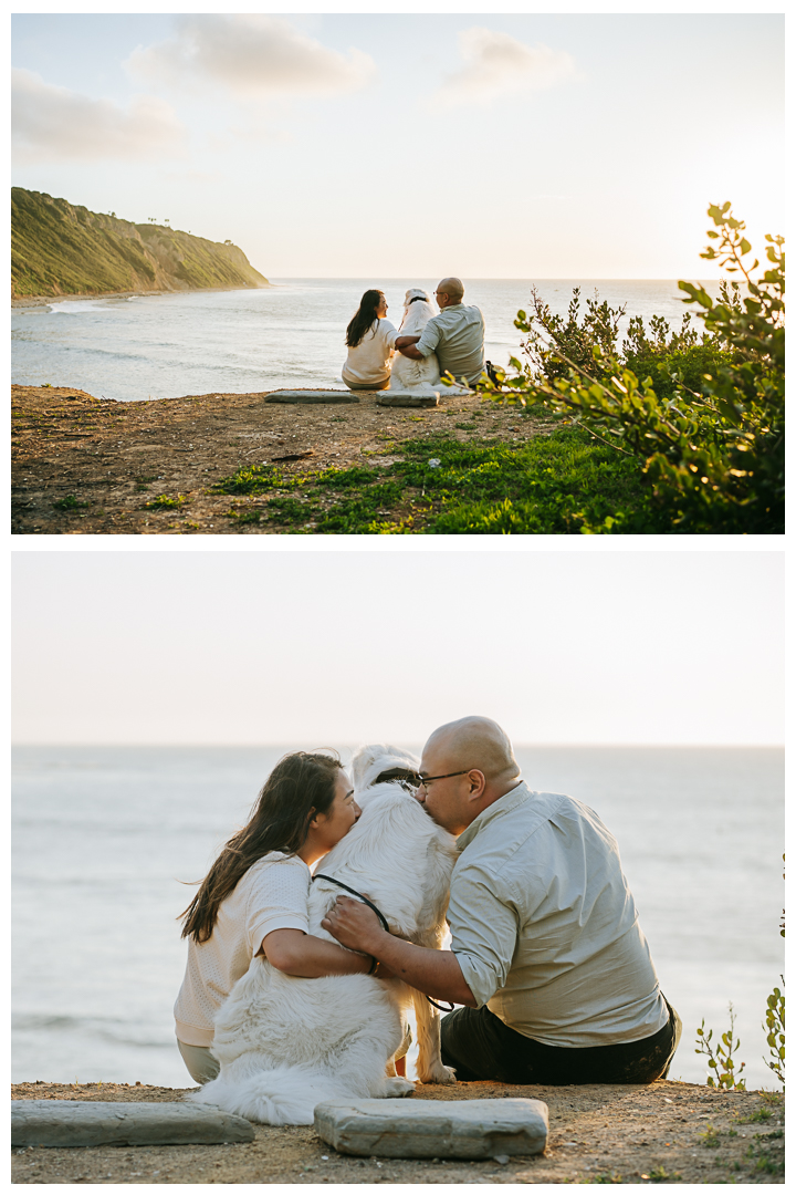
<svg viewBox="0 0 796 1195">
<path fill-rule="evenodd" d="M 12 60 L 14 185 L 271 278 L 709 280 L 709 203 L 784 231 L 782 14 L 36 13 Z"/>
</svg>

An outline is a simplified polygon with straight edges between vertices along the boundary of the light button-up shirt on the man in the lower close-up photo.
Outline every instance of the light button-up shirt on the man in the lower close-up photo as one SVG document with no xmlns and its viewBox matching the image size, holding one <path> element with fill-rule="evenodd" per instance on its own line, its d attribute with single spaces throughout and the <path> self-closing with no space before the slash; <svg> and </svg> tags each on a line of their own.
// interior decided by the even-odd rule
<svg viewBox="0 0 796 1195">
<path fill-rule="evenodd" d="M 616 840 L 593 809 L 524 782 L 458 839 L 448 920 L 477 1000 L 548 1046 L 609 1046 L 668 1010 Z"/>
</svg>

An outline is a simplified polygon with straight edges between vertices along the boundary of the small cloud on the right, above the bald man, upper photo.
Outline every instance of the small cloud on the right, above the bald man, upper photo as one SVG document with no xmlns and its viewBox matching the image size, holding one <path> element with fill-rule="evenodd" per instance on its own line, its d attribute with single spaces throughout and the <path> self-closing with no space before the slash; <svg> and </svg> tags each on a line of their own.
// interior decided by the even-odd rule
<svg viewBox="0 0 796 1195">
<path fill-rule="evenodd" d="M 525 45 L 508 33 L 465 29 L 458 35 L 464 66 L 437 91 L 446 104 L 489 102 L 500 96 L 554 87 L 575 74 L 574 59 L 548 45 Z"/>
</svg>

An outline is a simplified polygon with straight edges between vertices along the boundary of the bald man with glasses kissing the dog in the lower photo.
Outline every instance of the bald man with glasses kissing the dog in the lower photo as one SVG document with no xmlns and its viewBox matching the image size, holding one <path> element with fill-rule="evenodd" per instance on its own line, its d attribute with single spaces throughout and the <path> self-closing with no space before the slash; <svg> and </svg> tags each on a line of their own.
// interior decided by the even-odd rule
<svg viewBox="0 0 796 1195">
<path fill-rule="evenodd" d="M 443 1061 L 464 1080 L 653 1083 L 680 1038 L 616 840 L 572 797 L 533 792 L 490 718 L 440 727 L 420 760 L 426 811 L 458 839 L 450 951 L 387 933 L 338 899 L 323 921 L 433 999 Z"/>
</svg>

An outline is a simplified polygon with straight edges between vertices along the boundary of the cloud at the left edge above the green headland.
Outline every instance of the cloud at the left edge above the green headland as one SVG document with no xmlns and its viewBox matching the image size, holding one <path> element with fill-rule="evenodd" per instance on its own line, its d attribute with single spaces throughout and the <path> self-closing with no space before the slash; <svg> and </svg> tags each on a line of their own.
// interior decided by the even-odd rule
<svg viewBox="0 0 796 1195">
<path fill-rule="evenodd" d="M 181 157 L 186 131 L 154 96 L 134 96 L 125 110 L 12 71 L 12 141 L 23 161 Z"/>
</svg>

